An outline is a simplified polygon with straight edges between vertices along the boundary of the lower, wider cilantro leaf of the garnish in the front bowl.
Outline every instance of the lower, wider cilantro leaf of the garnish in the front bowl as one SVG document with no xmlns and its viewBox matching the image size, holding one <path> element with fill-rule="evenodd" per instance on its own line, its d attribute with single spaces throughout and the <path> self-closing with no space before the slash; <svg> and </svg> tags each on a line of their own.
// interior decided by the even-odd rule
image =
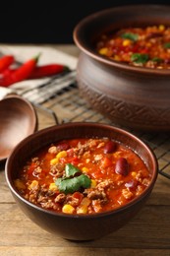
<svg viewBox="0 0 170 256">
<path fill-rule="evenodd" d="M 85 174 L 73 178 L 58 178 L 55 181 L 59 191 L 65 194 L 74 193 L 81 188 L 88 188 L 90 183 L 91 180 Z"/>
</svg>

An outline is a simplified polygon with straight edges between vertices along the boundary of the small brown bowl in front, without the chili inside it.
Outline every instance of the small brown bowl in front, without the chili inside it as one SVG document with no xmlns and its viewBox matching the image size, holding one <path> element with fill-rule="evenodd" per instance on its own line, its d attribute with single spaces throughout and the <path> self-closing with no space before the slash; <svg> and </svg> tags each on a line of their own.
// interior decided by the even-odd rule
<svg viewBox="0 0 170 256">
<path fill-rule="evenodd" d="M 151 182 L 138 199 L 115 211 L 76 216 L 43 210 L 29 203 L 18 193 L 14 179 L 32 154 L 55 141 L 81 137 L 112 138 L 127 145 L 142 158 L 151 173 Z M 71 240 L 96 239 L 127 224 L 142 209 L 153 189 L 157 173 L 157 160 L 153 152 L 140 139 L 125 130 L 97 123 L 67 123 L 38 131 L 28 136 L 15 148 L 5 166 L 8 186 L 18 206 L 28 218 L 45 230 Z"/>
</svg>

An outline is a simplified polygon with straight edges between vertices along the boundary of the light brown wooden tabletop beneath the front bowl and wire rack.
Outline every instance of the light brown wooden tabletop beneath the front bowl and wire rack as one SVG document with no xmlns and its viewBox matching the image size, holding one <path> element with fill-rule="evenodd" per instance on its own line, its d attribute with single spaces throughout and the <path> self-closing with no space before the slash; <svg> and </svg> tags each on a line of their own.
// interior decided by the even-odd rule
<svg viewBox="0 0 170 256">
<path fill-rule="evenodd" d="M 52 45 L 52 47 L 56 47 L 57 49 L 74 56 L 79 55 L 79 50 L 73 45 Z M 82 100 L 80 99 L 78 90 L 75 89 L 74 94 L 77 96 L 78 101 Z M 58 96 L 58 98 L 60 99 L 62 96 Z M 64 114 L 66 118 L 69 118 L 69 115 L 71 115 L 71 113 L 73 114 L 73 111 L 69 110 L 69 107 L 71 106 L 71 104 L 70 106 L 68 104 L 68 108 L 66 108 L 62 106 L 62 103 L 57 104 L 57 113 L 59 113 L 59 119 L 60 115 Z M 87 111 L 92 111 L 90 110 L 90 107 L 86 107 L 86 109 Z M 54 122 L 52 119 L 49 121 L 49 118 L 44 118 L 43 115 L 44 113 L 38 113 L 39 129 L 50 126 Z M 97 113 L 95 113 L 93 116 L 96 118 Z M 169 141 L 166 144 L 166 147 L 169 154 Z M 23 212 L 16 205 L 7 186 L 4 167 L 4 163 L 1 163 L 1 256 L 170 255 L 170 179 L 158 174 L 156 184 L 146 205 L 129 224 L 126 224 L 118 231 L 98 240 L 90 242 L 72 242 L 46 232 L 36 224 L 33 224 L 23 214 Z M 168 166 L 168 168 L 170 167 Z"/>
</svg>

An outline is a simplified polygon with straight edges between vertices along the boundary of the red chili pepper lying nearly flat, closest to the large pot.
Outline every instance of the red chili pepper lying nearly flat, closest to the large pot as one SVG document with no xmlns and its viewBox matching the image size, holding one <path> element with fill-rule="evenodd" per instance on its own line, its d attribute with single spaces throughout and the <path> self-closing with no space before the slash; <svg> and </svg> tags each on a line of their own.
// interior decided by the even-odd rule
<svg viewBox="0 0 170 256">
<path fill-rule="evenodd" d="M 53 76 L 57 74 L 61 74 L 62 72 L 68 70 L 69 68 L 62 64 L 47 64 L 42 66 L 37 66 L 32 71 L 28 79 L 37 79 L 48 76 Z"/>
</svg>

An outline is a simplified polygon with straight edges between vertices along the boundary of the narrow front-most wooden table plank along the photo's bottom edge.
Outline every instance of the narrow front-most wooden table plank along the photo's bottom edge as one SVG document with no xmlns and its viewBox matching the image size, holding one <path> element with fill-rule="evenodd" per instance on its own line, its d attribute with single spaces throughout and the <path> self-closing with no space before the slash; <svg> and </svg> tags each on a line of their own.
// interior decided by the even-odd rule
<svg viewBox="0 0 170 256">
<path fill-rule="evenodd" d="M 0 248 L 1 256 L 169 256 L 169 250 L 154 249 L 129 249 L 129 248 L 91 248 L 91 247 L 11 247 L 5 246 Z"/>
</svg>

